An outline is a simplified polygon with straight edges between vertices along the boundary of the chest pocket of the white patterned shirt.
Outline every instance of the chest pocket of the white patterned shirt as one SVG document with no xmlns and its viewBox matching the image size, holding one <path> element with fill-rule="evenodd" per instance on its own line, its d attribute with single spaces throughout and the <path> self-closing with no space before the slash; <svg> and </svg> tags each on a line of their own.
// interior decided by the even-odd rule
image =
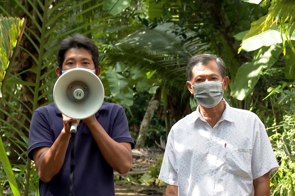
<svg viewBox="0 0 295 196">
<path fill-rule="evenodd" d="M 252 149 L 226 143 L 225 150 L 225 171 L 238 177 L 252 176 Z"/>
</svg>

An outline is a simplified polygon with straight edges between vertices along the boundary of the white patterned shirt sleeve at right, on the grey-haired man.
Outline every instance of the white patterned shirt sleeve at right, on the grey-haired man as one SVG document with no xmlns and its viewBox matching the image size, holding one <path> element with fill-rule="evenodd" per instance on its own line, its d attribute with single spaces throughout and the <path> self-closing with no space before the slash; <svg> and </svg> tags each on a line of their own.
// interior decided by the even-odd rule
<svg viewBox="0 0 295 196">
<path fill-rule="evenodd" d="M 253 180 L 265 175 L 266 173 L 271 175 L 271 173 L 279 168 L 278 161 L 276 160 L 276 156 L 273 152 L 265 126 L 261 120 L 257 118 L 255 119 L 254 124 L 251 161 Z"/>
</svg>

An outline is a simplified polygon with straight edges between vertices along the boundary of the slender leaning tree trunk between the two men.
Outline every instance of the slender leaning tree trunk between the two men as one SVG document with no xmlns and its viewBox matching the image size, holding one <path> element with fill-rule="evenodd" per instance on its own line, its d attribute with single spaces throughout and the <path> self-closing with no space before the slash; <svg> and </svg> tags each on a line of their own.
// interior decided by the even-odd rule
<svg viewBox="0 0 295 196">
<path fill-rule="evenodd" d="M 135 149 L 143 148 L 145 146 L 145 140 L 147 138 L 147 133 L 148 133 L 148 129 L 150 127 L 150 122 L 152 120 L 152 117 L 153 117 L 155 110 L 156 110 L 158 103 L 159 103 L 159 96 L 158 96 L 159 92 L 160 92 L 160 88 L 157 89 L 156 93 L 150 99 L 150 103 L 148 104 L 148 107 L 145 111 L 145 115 L 144 115 L 141 125 L 140 125 Z"/>
</svg>

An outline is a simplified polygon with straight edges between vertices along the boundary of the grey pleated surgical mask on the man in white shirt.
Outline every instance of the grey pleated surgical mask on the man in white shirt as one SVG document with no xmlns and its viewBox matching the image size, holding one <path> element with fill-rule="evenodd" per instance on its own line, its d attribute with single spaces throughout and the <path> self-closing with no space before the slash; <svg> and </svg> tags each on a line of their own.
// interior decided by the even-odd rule
<svg viewBox="0 0 295 196">
<path fill-rule="evenodd" d="M 192 85 L 195 100 L 205 108 L 213 108 L 222 100 L 222 83 L 208 81 Z"/>
</svg>

